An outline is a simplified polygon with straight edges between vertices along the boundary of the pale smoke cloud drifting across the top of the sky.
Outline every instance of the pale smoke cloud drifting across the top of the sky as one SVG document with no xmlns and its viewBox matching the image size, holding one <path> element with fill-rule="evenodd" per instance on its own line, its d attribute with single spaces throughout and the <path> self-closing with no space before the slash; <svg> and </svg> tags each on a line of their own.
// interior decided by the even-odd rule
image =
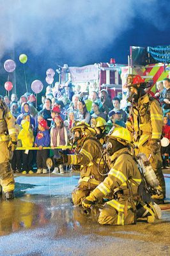
<svg viewBox="0 0 170 256">
<path fill-rule="evenodd" d="M 162 0 L 161 8 L 167 6 Z M 56 61 L 63 55 L 85 61 L 114 46 L 136 17 L 166 29 L 159 8 L 159 0 L 0 0 L 0 58 L 24 45 L 35 56 L 48 52 Z"/>
</svg>

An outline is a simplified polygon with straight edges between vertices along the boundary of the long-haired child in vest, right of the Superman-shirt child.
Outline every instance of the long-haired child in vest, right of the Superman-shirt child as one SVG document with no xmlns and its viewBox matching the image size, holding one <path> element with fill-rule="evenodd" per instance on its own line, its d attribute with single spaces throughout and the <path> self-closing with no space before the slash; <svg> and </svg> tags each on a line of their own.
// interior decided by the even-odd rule
<svg viewBox="0 0 170 256">
<path fill-rule="evenodd" d="M 54 126 L 50 130 L 50 147 L 54 149 L 54 147 L 59 146 L 66 146 L 68 142 L 68 136 L 66 132 L 66 127 L 63 124 L 63 119 L 60 115 L 56 115 L 54 117 Z M 54 157 L 59 157 L 59 149 L 54 149 Z M 59 165 L 58 167 L 54 168 L 52 173 L 56 174 L 59 173 L 63 174 L 63 164 Z"/>
</svg>

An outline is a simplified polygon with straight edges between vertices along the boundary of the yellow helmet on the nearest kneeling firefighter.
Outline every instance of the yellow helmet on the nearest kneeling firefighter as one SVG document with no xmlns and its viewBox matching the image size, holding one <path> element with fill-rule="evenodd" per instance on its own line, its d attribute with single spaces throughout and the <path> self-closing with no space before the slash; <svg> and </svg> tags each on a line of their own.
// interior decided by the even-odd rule
<svg viewBox="0 0 170 256">
<path fill-rule="evenodd" d="M 109 134 L 107 134 L 107 137 L 118 140 L 123 145 L 129 144 L 134 147 L 130 131 L 119 125 L 114 125 Z"/>
</svg>

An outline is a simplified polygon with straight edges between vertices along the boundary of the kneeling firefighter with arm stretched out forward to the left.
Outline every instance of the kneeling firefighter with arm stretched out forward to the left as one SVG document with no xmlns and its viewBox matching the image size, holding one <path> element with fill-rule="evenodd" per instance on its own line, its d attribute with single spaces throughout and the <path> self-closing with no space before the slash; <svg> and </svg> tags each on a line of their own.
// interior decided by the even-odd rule
<svg viewBox="0 0 170 256">
<path fill-rule="evenodd" d="M 71 130 L 73 142 L 77 143 L 75 154 L 62 155 L 55 159 L 55 164 L 74 164 L 80 166 L 81 178 L 72 192 L 74 205 L 81 205 L 82 200 L 95 189 L 105 177 L 105 165 L 102 159 L 103 148 L 94 137 L 95 129 L 84 122 L 78 122 Z"/>
</svg>

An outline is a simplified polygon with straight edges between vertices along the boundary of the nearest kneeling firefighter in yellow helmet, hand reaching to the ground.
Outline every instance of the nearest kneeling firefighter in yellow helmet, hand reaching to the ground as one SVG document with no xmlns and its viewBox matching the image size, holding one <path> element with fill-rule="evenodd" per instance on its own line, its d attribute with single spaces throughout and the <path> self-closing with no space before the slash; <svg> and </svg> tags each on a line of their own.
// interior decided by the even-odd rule
<svg viewBox="0 0 170 256">
<path fill-rule="evenodd" d="M 106 143 L 112 168 L 105 180 L 82 201 L 84 208 L 90 208 L 98 201 L 101 202 L 101 198 L 112 194 L 114 199 L 99 207 L 97 217 L 98 223 L 102 225 L 134 224 L 137 218 L 143 217 L 153 223 L 155 217 L 161 216 L 160 208 L 153 203 L 150 195 L 146 197 L 146 202 L 139 196 L 141 172 L 130 152 L 130 146 L 134 147 L 130 132 L 123 127 L 113 127 Z"/>
</svg>

